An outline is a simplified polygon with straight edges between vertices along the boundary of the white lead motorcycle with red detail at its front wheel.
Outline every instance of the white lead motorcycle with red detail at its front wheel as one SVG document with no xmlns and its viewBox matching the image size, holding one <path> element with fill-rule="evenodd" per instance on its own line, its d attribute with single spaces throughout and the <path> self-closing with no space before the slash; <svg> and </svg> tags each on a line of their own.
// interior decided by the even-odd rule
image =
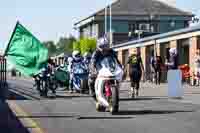
<svg viewBox="0 0 200 133">
<path fill-rule="evenodd" d="M 112 57 L 105 57 L 99 68 L 95 81 L 96 110 L 110 113 L 118 112 L 119 109 L 119 82 L 123 77 L 123 70 Z"/>
</svg>

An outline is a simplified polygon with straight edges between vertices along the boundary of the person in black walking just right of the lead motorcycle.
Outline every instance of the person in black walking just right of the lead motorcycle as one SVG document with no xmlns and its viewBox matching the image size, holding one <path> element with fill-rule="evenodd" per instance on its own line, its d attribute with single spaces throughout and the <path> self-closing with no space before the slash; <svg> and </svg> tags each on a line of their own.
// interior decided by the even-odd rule
<svg viewBox="0 0 200 133">
<path fill-rule="evenodd" d="M 137 49 L 134 50 L 134 53 L 129 57 L 126 64 L 130 65 L 129 76 L 131 80 L 131 96 L 135 97 L 135 94 L 136 96 L 139 95 L 140 80 L 142 73 L 144 73 L 142 58 Z"/>
</svg>

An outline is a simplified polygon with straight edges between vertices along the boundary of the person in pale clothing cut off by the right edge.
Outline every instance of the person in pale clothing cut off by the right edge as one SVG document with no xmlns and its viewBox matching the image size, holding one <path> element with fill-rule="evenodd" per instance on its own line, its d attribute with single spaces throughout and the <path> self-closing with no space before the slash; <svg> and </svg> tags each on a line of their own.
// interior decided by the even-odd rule
<svg viewBox="0 0 200 133">
<path fill-rule="evenodd" d="M 199 50 L 197 50 L 196 52 L 194 64 L 195 64 L 194 73 L 196 77 L 196 85 L 199 85 L 199 77 L 200 77 L 200 51 Z"/>
</svg>

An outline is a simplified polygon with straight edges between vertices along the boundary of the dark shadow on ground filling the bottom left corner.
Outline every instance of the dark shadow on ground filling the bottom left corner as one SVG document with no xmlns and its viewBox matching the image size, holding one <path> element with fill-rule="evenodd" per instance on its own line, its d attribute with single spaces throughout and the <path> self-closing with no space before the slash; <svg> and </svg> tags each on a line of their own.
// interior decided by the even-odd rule
<svg viewBox="0 0 200 133">
<path fill-rule="evenodd" d="M 13 114 L 6 102 L 0 101 L 0 106 L 0 131 L 2 133 L 30 133 Z"/>
</svg>

